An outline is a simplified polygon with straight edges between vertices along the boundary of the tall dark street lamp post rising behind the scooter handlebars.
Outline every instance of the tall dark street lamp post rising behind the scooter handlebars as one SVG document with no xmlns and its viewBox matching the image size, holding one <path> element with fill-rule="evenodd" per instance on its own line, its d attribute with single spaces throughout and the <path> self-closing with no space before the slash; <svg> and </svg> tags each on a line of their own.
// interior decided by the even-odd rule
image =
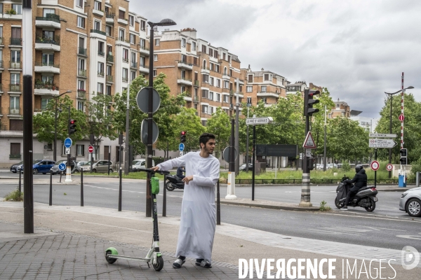
<svg viewBox="0 0 421 280">
<path fill-rule="evenodd" d="M 152 167 L 152 118 L 154 116 L 153 111 L 153 98 L 154 98 L 154 27 L 158 26 L 171 26 L 176 25 L 173 20 L 168 18 L 161 20 L 161 22 L 147 22 L 151 27 L 151 34 L 149 36 L 149 100 L 147 106 L 147 168 Z M 126 139 L 127 141 L 127 139 Z M 151 202 L 151 190 L 150 190 L 150 174 L 147 174 L 146 181 L 146 216 L 152 217 L 152 202 Z"/>
</svg>

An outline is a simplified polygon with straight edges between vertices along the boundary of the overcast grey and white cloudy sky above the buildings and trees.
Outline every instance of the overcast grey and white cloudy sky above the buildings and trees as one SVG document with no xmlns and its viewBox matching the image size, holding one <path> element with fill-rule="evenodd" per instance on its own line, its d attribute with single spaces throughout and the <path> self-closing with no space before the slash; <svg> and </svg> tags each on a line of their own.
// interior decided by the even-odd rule
<svg viewBox="0 0 421 280">
<path fill-rule="evenodd" d="M 171 18 L 250 64 L 327 87 L 333 100 L 379 117 L 384 92 L 405 87 L 421 101 L 419 0 L 132 0 L 152 22 Z M 162 29 L 159 29 L 162 31 Z"/>
</svg>

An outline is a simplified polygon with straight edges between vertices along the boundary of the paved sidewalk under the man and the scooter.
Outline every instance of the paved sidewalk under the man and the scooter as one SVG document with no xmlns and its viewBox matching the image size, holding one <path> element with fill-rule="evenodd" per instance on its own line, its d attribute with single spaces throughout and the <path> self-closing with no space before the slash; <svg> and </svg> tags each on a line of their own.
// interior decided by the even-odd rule
<svg viewBox="0 0 421 280">
<path fill-rule="evenodd" d="M 109 265 L 104 256 L 109 246 L 122 255 L 146 255 L 152 219 L 145 218 L 145 213 L 35 203 L 34 235 L 22 234 L 21 202 L 0 202 L 0 213 L 0 279 L 238 279 L 239 258 L 335 258 L 337 279 L 345 258 L 359 264 L 393 258 L 395 279 L 417 279 L 421 273 L 421 264 L 411 270 L 401 267 L 400 250 L 290 237 L 225 223 L 215 232 L 211 269 L 196 267 L 193 260 L 173 269 L 180 218 L 171 216 L 159 216 L 165 265 L 155 272 L 145 262 L 117 260 Z M 383 267 L 389 266 L 383 263 Z M 392 278 L 394 271 L 384 268 L 382 277 Z"/>
</svg>

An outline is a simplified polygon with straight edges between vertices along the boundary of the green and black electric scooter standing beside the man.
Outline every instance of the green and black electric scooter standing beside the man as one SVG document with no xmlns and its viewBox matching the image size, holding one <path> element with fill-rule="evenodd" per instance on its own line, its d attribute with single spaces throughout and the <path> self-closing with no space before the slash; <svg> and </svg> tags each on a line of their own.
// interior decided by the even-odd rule
<svg viewBox="0 0 421 280">
<path fill-rule="evenodd" d="M 137 260 L 140 262 L 147 262 L 147 266 L 149 266 L 149 262 L 152 262 L 152 266 L 156 271 L 160 271 L 163 268 L 163 258 L 161 252 L 159 252 L 159 233 L 158 233 L 158 210 L 156 208 L 156 195 L 159 193 L 159 180 L 155 177 L 155 173 L 159 173 L 161 175 L 168 175 L 170 172 L 168 171 L 154 171 L 152 169 L 139 169 L 140 172 L 148 172 L 149 178 L 151 180 L 151 200 L 152 200 L 152 218 L 154 220 L 154 237 L 152 241 L 152 246 L 147 252 L 145 258 L 135 258 L 135 257 L 128 257 L 126 255 L 119 255 L 119 252 L 114 247 L 109 247 L 105 250 L 105 259 L 108 263 L 114 263 L 117 259 L 123 260 Z"/>
</svg>

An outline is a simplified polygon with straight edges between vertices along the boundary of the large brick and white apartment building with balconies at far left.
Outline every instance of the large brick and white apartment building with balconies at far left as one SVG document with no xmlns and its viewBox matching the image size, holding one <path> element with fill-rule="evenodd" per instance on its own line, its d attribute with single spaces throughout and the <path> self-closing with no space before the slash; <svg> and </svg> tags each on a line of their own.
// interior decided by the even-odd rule
<svg viewBox="0 0 421 280">
<path fill-rule="evenodd" d="M 122 92 L 145 71 L 146 19 L 126 0 L 33 1 L 34 114 L 71 90 L 73 106 L 86 111 L 94 94 Z M 143 58 L 142 58 L 143 57 Z M 0 166 L 22 160 L 22 4 L 0 0 Z M 112 148 L 114 146 L 114 148 Z M 104 139 L 98 158 L 118 159 L 116 141 Z M 52 144 L 34 138 L 34 159 L 53 159 Z M 58 143 L 57 160 L 65 159 Z M 59 148 L 60 147 L 60 148 Z M 88 141 L 72 156 L 88 159 Z"/>
</svg>

